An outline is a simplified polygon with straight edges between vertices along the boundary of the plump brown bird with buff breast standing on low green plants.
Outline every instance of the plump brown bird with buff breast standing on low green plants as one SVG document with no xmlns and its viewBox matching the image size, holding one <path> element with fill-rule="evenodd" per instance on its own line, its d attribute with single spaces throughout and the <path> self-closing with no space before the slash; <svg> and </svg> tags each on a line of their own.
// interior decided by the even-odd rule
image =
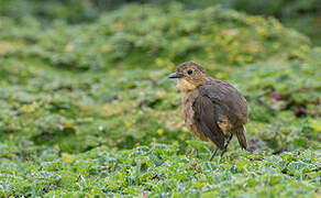
<svg viewBox="0 0 321 198">
<path fill-rule="evenodd" d="M 180 64 L 168 77 L 177 78 L 188 129 L 200 140 L 210 139 L 217 145 L 210 161 L 219 148 L 221 156 L 224 154 L 234 134 L 246 150 L 247 102 L 235 87 L 210 77 L 192 62 Z"/>
</svg>

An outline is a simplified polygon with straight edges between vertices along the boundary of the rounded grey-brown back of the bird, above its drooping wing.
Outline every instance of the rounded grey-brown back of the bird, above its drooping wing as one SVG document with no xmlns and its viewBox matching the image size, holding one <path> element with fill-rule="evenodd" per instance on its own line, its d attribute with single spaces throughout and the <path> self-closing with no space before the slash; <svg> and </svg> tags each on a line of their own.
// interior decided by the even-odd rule
<svg viewBox="0 0 321 198">
<path fill-rule="evenodd" d="M 213 80 L 199 87 L 200 95 L 210 99 L 219 107 L 220 118 L 228 118 L 233 125 L 243 125 L 247 122 L 247 102 L 236 88 L 221 80 Z"/>
</svg>

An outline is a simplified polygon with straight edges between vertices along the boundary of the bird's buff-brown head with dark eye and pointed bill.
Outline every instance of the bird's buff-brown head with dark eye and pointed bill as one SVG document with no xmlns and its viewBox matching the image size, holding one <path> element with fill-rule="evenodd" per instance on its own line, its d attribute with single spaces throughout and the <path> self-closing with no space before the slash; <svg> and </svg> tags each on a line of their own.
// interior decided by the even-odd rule
<svg viewBox="0 0 321 198">
<path fill-rule="evenodd" d="M 176 72 L 170 74 L 168 78 L 177 78 L 179 89 L 181 91 L 190 91 L 206 84 L 207 76 L 202 66 L 192 62 L 186 62 L 180 64 Z"/>
</svg>

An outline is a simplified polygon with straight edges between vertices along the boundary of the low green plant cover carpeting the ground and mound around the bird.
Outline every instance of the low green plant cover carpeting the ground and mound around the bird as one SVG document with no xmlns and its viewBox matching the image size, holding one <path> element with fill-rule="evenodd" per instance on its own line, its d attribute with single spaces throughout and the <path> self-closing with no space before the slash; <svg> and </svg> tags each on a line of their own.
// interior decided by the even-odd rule
<svg viewBox="0 0 321 198">
<path fill-rule="evenodd" d="M 308 37 L 221 7 L 97 18 L 0 18 L 1 197 L 320 196 L 321 48 Z M 233 140 L 208 162 L 166 78 L 185 61 L 246 97 L 253 152 Z"/>
</svg>

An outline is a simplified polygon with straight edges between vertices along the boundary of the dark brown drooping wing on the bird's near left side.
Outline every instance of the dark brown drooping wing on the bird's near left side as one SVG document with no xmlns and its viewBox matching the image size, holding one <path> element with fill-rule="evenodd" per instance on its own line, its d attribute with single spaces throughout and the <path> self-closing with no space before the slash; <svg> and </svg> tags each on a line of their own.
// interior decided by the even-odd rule
<svg viewBox="0 0 321 198">
<path fill-rule="evenodd" d="M 209 138 L 220 150 L 223 150 L 224 135 L 215 121 L 214 106 L 212 101 L 207 97 L 199 96 L 196 98 L 192 108 L 198 129 L 200 129 L 201 132 L 204 133 L 204 135 Z"/>
</svg>

